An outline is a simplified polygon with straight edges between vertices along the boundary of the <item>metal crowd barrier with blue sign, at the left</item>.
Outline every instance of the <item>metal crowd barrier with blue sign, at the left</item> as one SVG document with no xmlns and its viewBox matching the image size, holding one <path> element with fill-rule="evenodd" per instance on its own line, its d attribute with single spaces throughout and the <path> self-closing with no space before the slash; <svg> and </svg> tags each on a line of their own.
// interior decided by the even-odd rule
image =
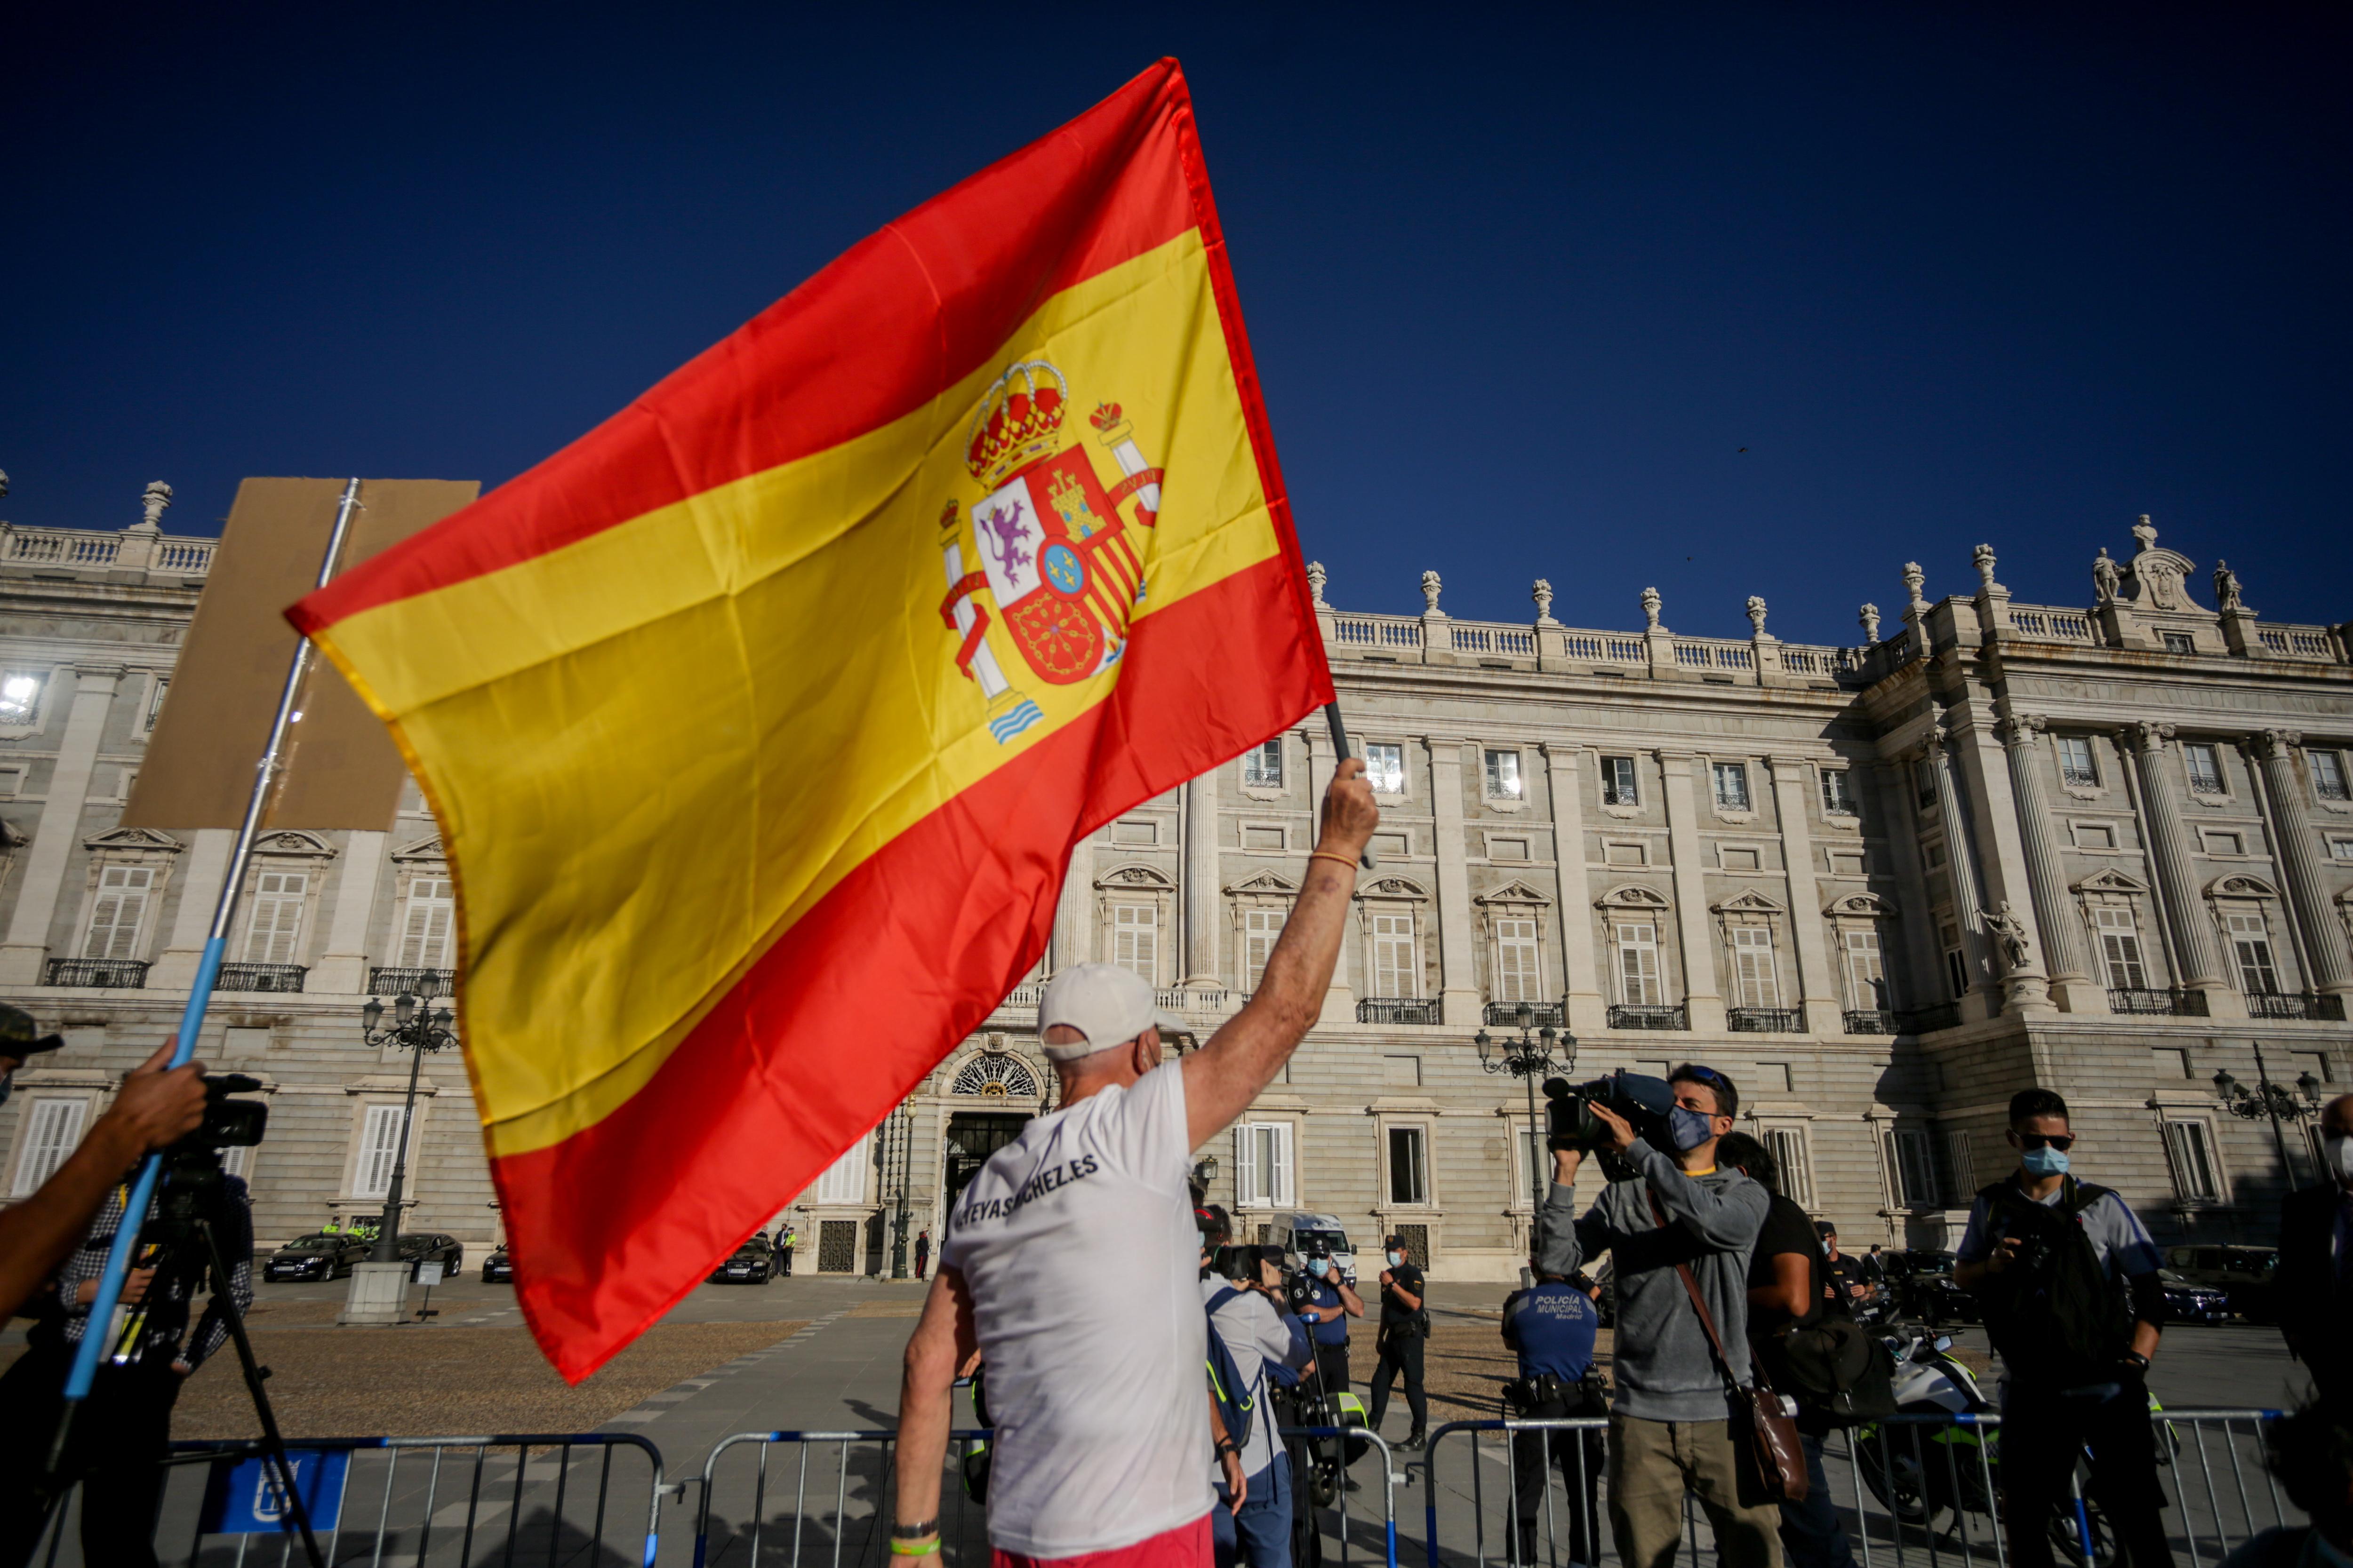
<svg viewBox="0 0 2353 1568">
<path fill-rule="evenodd" d="M 313 1436 L 289 1441 L 287 1450 L 329 1566 L 654 1563 L 666 1490 L 661 1450 L 635 1432 Z M 621 1450 L 645 1455 L 642 1493 L 638 1465 L 626 1458 L 614 1465 Z M 306 1563 L 285 1486 L 261 1455 L 252 1441 L 172 1443 L 155 1556 L 188 1568 Z M 80 1488 L 56 1512 L 33 1561 L 47 1568 L 82 1561 Z"/>
</svg>

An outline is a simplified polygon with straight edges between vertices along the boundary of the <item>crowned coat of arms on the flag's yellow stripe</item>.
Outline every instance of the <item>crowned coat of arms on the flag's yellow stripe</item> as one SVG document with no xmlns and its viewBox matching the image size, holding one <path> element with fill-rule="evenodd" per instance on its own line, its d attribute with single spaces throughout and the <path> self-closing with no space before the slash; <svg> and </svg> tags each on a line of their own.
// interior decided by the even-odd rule
<svg viewBox="0 0 2353 1568">
<path fill-rule="evenodd" d="M 1136 451 L 1120 404 L 1101 402 L 1087 423 L 1118 465 L 1106 487 L 1087 442 L 1064 437 L 1068 411 L 1071 378 L 1059 369 L 1045 360 L 1007 367 L 965 435 L 981 498 L 969 515 L 955 501 L 939 515 L 948 571 L 939 616 L 960 637 L 955 668 L 979 682 L 998 745 L 1045 715 L 1005 677 L 991 625 L 1038 679 L 1071 686 L 1120 661 L 1146 592 L 1139 529 L 1160 520 L 1160 470 Z M 981 595 L 995 602 L 993 616 Z"/>
</svg>

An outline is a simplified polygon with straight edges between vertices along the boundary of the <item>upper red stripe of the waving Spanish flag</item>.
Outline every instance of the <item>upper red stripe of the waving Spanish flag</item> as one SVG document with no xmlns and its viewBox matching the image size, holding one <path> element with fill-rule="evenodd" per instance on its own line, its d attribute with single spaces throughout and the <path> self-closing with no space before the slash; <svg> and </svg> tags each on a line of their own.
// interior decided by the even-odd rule
<svg viewBox="0 0 2353 1568">
<path fill-rule="evenodd" d="M 1193 228 L 1207 195 L 1198 167 L 1193 101 L 1165 59 L 859 242 L 581 440 L 287 618 L 315 632 L 885 425 L 1005 353 L 1054 294 Z M 1228 277 L 1221 303 L 1231 292 Z M 1245 393 L 1257 400 L 1254 386 Z"/>
</svg>

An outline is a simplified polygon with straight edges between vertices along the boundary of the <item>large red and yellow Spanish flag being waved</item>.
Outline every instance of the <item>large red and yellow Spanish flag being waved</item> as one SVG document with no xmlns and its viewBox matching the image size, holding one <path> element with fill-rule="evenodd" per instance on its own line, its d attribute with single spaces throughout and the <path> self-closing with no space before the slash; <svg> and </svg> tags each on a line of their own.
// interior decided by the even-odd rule
<svg viewBox="0 0 2353 1568">
<path fill-rule="evenodd" d="M 287 616 L 440 820 L 576 1382 L 988 1016 L 1073 842 L 1332 696 L 1176 61 Z"/>
</svg>

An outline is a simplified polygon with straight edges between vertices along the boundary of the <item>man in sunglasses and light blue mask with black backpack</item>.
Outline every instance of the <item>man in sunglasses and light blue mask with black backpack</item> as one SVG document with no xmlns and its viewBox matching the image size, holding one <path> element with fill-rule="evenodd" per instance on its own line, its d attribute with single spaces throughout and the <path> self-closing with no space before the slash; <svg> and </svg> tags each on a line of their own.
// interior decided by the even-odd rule
<svg viewBox="0 0 2353 1568">
<path fill-rule="evenodd" d="M 2049 1088 L 2009 1098 L 2019 1168 L 1977 1194 L 1953 1284 L 2002 1356 L 2002 1493 L 2014 1568 L 2049 1568 L 2052 1509 L 2085 1446 L 2092 1500 L 2129 1568 L 2174 1561 L 2160 1519 L 2148 1359 L 2165 1324 L 2158 1248 L 2139 1215 L 2068 1171 L 2075 1133 Z"/>
</svg>

